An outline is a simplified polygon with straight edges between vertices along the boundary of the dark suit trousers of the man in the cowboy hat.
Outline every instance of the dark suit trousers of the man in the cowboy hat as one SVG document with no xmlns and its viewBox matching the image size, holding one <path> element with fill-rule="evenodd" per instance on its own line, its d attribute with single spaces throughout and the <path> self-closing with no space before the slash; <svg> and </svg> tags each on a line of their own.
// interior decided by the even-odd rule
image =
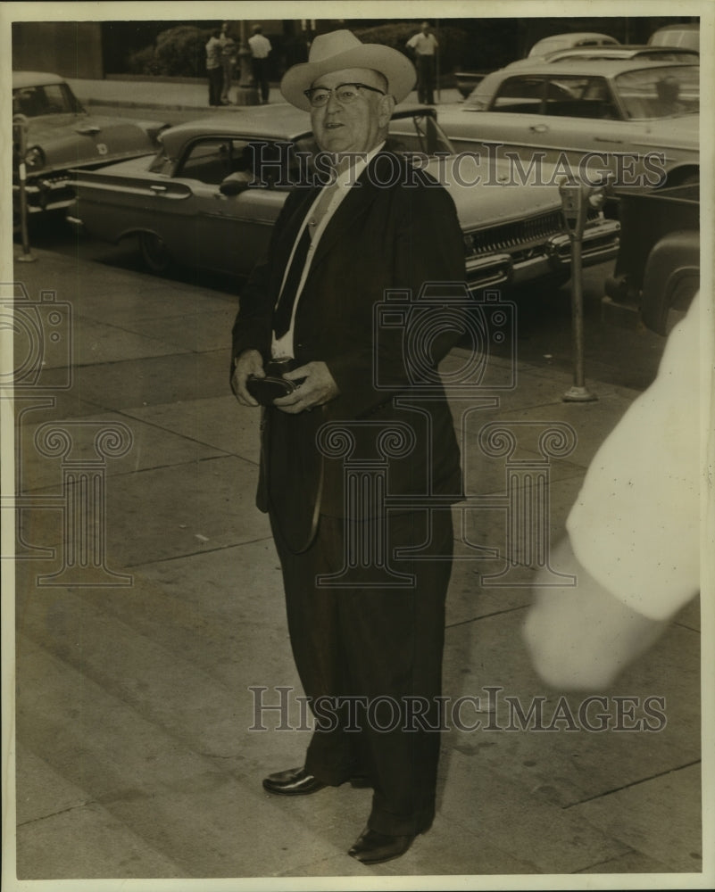
<svg viewBox="0 0 715 892">
<path fill-rule="evenodd" d="M 305 767 L 333 786 L 365 775 L 374 790 L 370 828 L 415 835 L 435 814 L 452 515 L 388 512 L 383 521 L 321 515 L 300 554 L 273 529 L 295 665 L 314 717 Z M 383 566 L 351 559 L 346 541 L 386 531 Z M 410 547 L 422 559 L 393 554 Z M 348 565 L 339 586 L 318 579 Z"/>
</svg>

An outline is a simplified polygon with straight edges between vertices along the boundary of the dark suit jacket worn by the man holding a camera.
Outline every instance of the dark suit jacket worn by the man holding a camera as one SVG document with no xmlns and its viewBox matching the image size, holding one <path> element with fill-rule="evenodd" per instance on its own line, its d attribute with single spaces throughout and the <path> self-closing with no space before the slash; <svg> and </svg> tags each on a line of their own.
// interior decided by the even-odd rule
<svg viewBox="0 0 715 892">
<path fill-rule="evenodd" d="M 273 307 L 315 195 L 315 188 L 297 188 L 288 196 L 269 255 L 241 294 L 234 357 L 249 349 L 270 357 Z M 408 455 L 390 459 L 387 494 L 460 497 L 459 448 L 444 392 L 438 381 L 428 381 L 428 393 L 424 382 L 416 383 L 419 374 L 409 359 L 416 349 L 420 364 L 434 368 L 460 335 L 454 312 L 444 326 L 439 302 L 417 302 L 423 286 L 465 279 L 461 228 L 451 196 L 399 156 L 378 153 L 329 220 L 295 317 L 297 364 L 324 361 L 340 394 L 320 410 L 299 415 L 265 410 L 257 504 L 270 508 L 292 550 L 307 547 L 318 511 L 332 516 L 349 511 L 343 459 L 323 459 L 316 446 L 316 434 L 326 422 L 350 426 L 356 437 L 351 460 L 378 461 L 378 430 L 395 422 L 409 425 L 414 445 Z M 412 312 L 395 316 L 376 309 L 389 290 L 411 293 L 412 302 L 401 307 L 412 307 Z M 412 343 L 415 332 L 425 351 Z M 402 406 L 395 405 L 395 396 Z M 373 508 L 379 509 L 377 504 Z"/>
</svg>

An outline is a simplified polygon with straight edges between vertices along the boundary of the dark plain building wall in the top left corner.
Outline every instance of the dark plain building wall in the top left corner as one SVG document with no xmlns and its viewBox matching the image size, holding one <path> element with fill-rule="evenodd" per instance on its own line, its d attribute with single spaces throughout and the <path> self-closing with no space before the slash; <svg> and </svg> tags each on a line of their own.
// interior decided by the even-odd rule
<svg viewBox="0 0 715 892">
<path fill-rule="evenodd" d="M 63 78 L 104 78 L 98 21 L 15 21 L 12 69 Z"/>
</svg>

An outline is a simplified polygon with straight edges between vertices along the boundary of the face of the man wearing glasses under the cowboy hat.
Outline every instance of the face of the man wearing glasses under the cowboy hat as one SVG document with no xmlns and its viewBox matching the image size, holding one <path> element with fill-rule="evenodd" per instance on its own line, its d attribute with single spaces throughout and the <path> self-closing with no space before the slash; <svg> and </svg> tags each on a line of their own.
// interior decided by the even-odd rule
<svg viewBox="0 0 715 892">
<path fill-rule="evenodd" d="M 341 84 L 367 84 L 378 90 L 385 83 L 375 71 L 347 68 L 315 78 L 311 87 L 335 90 Z M 394 101 L 390 96 L 359 90 L 353 103 L 341 105 L 335 93 L 321 108 L 311 110 L 312 131 L 324 152 L 370 152 L 385 138 Z"/>
</svg>

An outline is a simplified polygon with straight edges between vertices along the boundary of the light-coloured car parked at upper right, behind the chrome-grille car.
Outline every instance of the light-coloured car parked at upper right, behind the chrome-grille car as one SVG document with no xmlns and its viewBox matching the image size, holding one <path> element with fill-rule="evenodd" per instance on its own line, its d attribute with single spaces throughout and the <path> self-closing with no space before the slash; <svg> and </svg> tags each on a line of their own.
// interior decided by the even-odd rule
<svg viewBox="0 0 715 892">
<path fill-rule="evenodd" d="M 575 168 L 583 159 L 616 186 L 672 186 L 699 176 L 699 73 L 637 58 L 537 60 L 487 75 L 439 118 L 459 152 L 491 145 Z"/>
</svg>

